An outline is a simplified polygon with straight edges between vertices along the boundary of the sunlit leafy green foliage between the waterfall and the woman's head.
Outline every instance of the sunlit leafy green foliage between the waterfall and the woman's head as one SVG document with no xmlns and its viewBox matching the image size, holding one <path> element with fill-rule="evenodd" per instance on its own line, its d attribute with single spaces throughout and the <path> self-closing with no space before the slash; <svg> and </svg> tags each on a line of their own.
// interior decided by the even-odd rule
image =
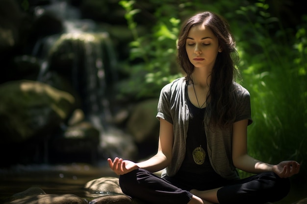
<svg viewBox="0 0 307 204">
<path fill-rule="evenodd" d="M 137 99 L 156 98 L 165 84 L 181 75 L 176 64 L 176 40 L 180 20 L 174 17 L 163 18 L 161 15 L 165 10 L 162 9 L 167 7 L 161 7 L 154 14 L 159 21 L 153 25 L 152 32 L 139 36 L 134 16 L 140 10 L 134 9 L 135 1 L 121 0 L 119 3 L 126 10 L 125 18 L 133 35 L 129 60 L 138 61 L 128 66 L 132 79 L 120 84 L 125 87 L 121 90 L 123 94 L 134 94 Z"/>
</svg>

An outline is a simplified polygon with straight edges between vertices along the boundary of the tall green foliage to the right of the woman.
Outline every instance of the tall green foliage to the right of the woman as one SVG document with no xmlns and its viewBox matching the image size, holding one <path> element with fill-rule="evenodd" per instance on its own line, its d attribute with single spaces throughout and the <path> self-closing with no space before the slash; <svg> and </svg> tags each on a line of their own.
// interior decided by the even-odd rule
<svg viewBox="0 0 307 204">
<path fill-rule="evenodd" d="M 289 34 L 291 31 L 284 30 L 279 20 L 267 12 L 268 8 L 265 0 L 259 0 L 237 10 L 249 21 L 246 27 L 240 28 L 242 40 L 238 49 L 240 67 L 244 68 L 243 83 L 251 93 L 254 119 L 249 129 L 250 154 L 271 163 L 289 159 L 304 164 L 307 156 L 307 21 L 303 17 L 306 24 L 297 30 L 296 38 L 289 38 L 293 36 Z M 251 20 L 253 17 L 257 23 Z M 244 39 L 247 32 L 249 36 Z M 301 172 L 306 171 L 303 166 Z M 303 173 L 302 177 L 307 179 Z"/>
</svg>

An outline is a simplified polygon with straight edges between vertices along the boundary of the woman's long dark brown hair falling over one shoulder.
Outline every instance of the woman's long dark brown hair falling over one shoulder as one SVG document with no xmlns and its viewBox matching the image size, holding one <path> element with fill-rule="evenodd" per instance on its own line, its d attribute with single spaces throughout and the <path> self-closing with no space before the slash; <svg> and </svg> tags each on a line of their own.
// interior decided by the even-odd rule
<svg viewBox="0 0 307 204">
<path fill-rule="evenodd" d="M 179 66 L 186 73 L 187 82 L 190 82 L 194 66 L 186 53 L 186 38 L 190 28 L 200 24 L 211 28 L 222 48 L 210 75 L 211 83 L 205 116 L 210 117 L 210 127 L 230 127 L 235 120 L 234 81 L 238 75 L 235 64 L 239 60 L 239 55 L 235 49 L 235 41 L 230 33 L 229 25 L 221 16 L 206 11 L 192 16 L 183 24 L 177 44 Z"/>
</svg>

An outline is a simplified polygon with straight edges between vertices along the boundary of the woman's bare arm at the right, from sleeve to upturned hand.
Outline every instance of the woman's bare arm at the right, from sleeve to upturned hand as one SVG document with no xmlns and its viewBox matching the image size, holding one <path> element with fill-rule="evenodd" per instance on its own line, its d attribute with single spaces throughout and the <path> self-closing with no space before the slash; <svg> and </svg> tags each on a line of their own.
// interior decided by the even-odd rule
<svg viewBox="0 0 307 204">
<path fill-rule="evenodd" d="M 233 124 L 232 160 L 236 168 L 250 173 L 273 171 L 280 177 L 290 177 L 299 172 L 300 164 L 296 161 L 281 161 L 273 165 L 250 157 L 247 153 L 247 124 L 248 120 Z"/>
</svg>

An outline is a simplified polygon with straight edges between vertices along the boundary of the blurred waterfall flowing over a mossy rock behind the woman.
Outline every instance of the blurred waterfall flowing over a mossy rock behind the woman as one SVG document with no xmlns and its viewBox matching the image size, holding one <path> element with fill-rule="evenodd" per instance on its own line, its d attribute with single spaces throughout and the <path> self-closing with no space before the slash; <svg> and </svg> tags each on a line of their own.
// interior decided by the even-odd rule
<svg viewBox="0 0 307 204">
<path fill-rule="evenodd" d="M 63 31 L 37 41 L 32 55 L 41 59 L 38 81 L 46 82 L 50 71 L 68 71 L 72 86 L 80 94 L 82 109 L 98 130 L 103 132 L 111 118 L 106 81 L 116 80 L 117 63 L 112 41 L 106 31 L 97 31 L 92 20 L 80 19 L 78 9 L 65 0 L 52 0 L 50 5 L 35 8 L 35 15 L 51 12 L 61 19 Z M 70 56 L 69 56 L 70 55 Z M 70 60 L 71 67 L 59 68 L 54 63 L 60 57 Z M 58 63 L 58 62 L 57 62 Z"/>
</svg>

